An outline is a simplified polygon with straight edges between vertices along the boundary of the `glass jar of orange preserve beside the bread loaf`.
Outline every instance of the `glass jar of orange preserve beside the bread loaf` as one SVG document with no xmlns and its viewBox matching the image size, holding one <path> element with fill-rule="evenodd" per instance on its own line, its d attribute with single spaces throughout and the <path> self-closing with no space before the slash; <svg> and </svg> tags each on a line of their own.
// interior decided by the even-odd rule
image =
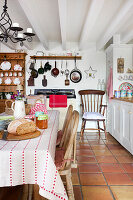
<svg viewBox="0 0 133 200">
<path fill-rule="evenodd" d="M 37 127 L 39 129 L 47 129 L 48 128 L 48 115 L 39 115 L 37 118 Z"/>
</svg>

